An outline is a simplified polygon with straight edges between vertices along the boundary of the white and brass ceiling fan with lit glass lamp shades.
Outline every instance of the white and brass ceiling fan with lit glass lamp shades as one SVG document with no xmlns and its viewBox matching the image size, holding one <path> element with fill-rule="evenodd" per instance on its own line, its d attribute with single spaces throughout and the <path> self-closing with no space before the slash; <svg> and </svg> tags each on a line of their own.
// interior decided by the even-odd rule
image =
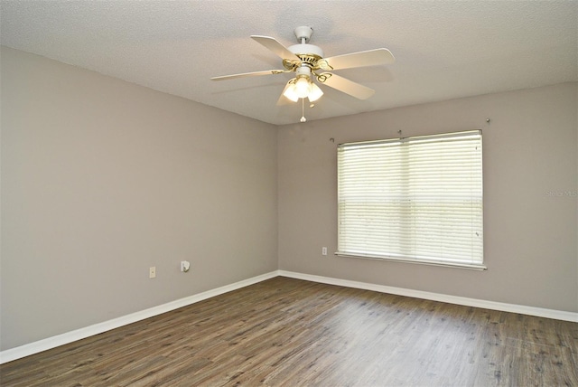
<svg viewBox="0 0 578 387">
<path fill-rule="evenodd" d="M 322 85 L 340 90 L 357 99 L 368 99 L 375 93 L 375 90 L 340 77 L 330 71 L 389 64 L 395 61 L 393 54 L 385 48 L 323 58 L 322 49 L 316 45 L 309 44 L 313 33 L 311 27 L 297 27 L 294 33 L 299 43 L 288 48 L 284 47 L 280 42 L 277 42 L 275 38 L 251 35 L 253 40 L 261 43 L 271 52 L 275 53 L 275 55 L 283 59 L 284 70 L 244 72 L 241 74 L 213 77 L 211 80 L 233 80 L 236 78 L 294 72 L 295 77 L 285 85 L 281 97 L 277 101 L 277 105 L 283 104 L 286 99 L 296 102 L 299 99 L 307 98 L 310 102 L 313 102 L 321 98 L 323 91 L 315 84 L 314 79 Z"/>
</svg>

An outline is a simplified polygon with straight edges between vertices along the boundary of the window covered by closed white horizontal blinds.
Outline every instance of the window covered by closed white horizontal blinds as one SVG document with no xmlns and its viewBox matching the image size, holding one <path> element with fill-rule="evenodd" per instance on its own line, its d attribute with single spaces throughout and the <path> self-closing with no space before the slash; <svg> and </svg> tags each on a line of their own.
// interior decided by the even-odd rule
<svg viewBox="0 0 578 387">
<path fill-rule="evenodd" d="M 337 255 L 485 269 L 481 131 L 338 146 Z"/>
</svg>

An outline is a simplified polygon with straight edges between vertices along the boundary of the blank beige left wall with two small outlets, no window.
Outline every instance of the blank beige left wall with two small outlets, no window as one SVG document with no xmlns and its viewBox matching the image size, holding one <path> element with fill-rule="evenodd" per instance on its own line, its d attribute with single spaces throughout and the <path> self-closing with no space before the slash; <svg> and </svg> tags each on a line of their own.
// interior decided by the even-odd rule
<svg viewBox="0 0 578 387">
<path fill-rule="evenodd" d="M 277 269 L 275 126 L 1 60 L 3 350 Z"/>
</svg>

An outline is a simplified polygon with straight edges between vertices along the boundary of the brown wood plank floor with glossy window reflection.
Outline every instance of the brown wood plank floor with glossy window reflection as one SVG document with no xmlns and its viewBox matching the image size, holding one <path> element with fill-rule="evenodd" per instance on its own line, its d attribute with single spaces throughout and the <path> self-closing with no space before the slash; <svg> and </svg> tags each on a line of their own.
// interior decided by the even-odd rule
<svg viewBox="0 0 578 387">
<path fill-rule="evenodd" d="M 277 277 L 0 366 L 3 386 L 578 386 L 578 324 Z"/>
</svg>

